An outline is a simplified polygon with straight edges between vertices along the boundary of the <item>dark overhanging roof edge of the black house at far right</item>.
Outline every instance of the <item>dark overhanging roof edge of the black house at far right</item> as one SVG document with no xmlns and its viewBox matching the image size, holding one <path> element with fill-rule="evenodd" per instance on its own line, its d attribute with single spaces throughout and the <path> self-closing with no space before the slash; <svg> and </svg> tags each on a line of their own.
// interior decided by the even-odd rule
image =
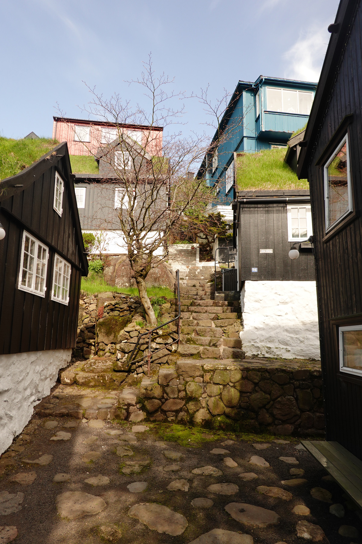
<svg viewBox="0 0 362 544">
<path fill-rule="evenodd" d="M 338 32 L 332 33 L 329 39 L 321 76 L 309 115 L 306 133 L 304 134 L 304 141 L 307 145 L 301 148 L 299 155 L 297 168 L 299 178 L 307 177 L 308 164 L 313 153 L 314 143 L 318 137 L 325 110 L 329 106 L 328 97 L 336 72 L 339 70 L 341 55 L 351 29 L 351 20 L 357 5 L 358 2 L 355 0 L 341 0 L 339 3 L 334 21 L 334 24 L 338 24 Z"/>
</svg>

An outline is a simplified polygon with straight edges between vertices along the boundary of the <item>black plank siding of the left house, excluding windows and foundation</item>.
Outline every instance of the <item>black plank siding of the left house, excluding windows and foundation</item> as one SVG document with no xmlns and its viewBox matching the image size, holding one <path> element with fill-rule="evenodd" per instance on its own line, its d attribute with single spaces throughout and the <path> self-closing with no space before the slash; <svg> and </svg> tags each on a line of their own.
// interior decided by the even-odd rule
<svg viewBox="0 0 362 544">
<path fill-rule="evenodd" d="M 56 149 L 66 150 L 66 144 Z M 75 347 L 80 280 L 87 264 L 67 151 L 60 157 L 46 162 L 34 180 L 30 170 L 41 170 L 39 164 L 0 182 L 11 188 L 24 181 L 23 189 L 12 190 L 9 197 L 6 188 L 0 191 L 0 221 L 6 232 L 0 242 L 0 354 Z M 53 208 L 56 171 L 64 181 L 61 217 Z M 48 246 L 44 298 L 17 288 L 24 230 Z M 50 298 L 55 253 L 71 263 L 68 305 Z"/>
</svg>

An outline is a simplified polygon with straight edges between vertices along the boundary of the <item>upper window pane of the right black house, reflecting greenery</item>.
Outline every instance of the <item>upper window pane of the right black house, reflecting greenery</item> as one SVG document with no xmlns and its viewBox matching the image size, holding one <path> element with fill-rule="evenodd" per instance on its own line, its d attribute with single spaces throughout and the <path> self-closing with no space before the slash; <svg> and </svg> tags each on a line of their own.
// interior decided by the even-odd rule
<svg viewBox="0 0 362 544">
<path fill-rule="evenodd" d="M 342 217 L 349 209 L 347 144 L 342 144 L 327 169 L 328 176 L 328 226 Z"/>
</svg>

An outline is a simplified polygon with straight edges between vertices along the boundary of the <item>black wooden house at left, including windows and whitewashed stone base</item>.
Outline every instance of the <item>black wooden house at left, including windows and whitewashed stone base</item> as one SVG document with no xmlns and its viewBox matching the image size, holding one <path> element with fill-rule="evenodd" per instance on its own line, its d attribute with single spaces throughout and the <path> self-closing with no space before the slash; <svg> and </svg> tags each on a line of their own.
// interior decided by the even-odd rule
<svg viewBox="0 0 362 544">
<path fill-rule="evenodd" d="M 0 182 L 0 222 L 3 452 L 49 394 L 76 343 L 88 265 L 66 143 Z"/>
</svg>

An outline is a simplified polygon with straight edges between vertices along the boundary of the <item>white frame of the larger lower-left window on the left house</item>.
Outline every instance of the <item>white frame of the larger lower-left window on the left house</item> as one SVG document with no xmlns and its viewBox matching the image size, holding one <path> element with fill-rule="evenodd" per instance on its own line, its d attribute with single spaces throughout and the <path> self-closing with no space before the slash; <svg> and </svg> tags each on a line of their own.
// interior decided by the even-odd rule
<svg viewBox="0 0 362 544">
<path fill-rule="evenodd" d="M 29 272 L 31 274 L 31 286 L 28 285 L 22 285 L 22 277 L 23 277 L 23 271 L 24 271 L 24 256 L 25 256 L 25 239 L 26 237 L 29 238 L 30 244 L 31 242 L 34 243 L 34 252 L 33 254 L 28 253 L 28 256 L 30 256 L 31 259 L 33 259 L 31 270 L 29 268 L 25 268 L 26 271 L 26 283 L 29 283 Z M 45 250 L 46 254 L 45 257 L 43 255 L 41 256 L 41 259 L 38 258 L 38 250 L 39 247 L 42 248 L 42 251 Z M 20 271 L 19 271 L 19 277 L 18 277 L 18 289 L 22 291 L 27 291 L 28 293 L 33 293 L 34 295 L 41 296 L 42 298 L 45 297 L 45 292 L 47 290 L 46 283 L 47 283 L 47 268 L 48 268 L 48 257 L 49 257 L 49 249 L 46 245 L 44 245 L 42 242 L 39 242 L 34 236 L 31 236 L 26 231 L 23 231 L 23 239 L 21 244 L 21 261 L 20 261 Z M 28 263 L 29 264 L 29 263 Z M 40 265 L 40 274 L 38 265 Z M 43 266 L 42 266 L 43 265 Z M 36 276 L 42 278 L 43 281 L 43 289 L 42 290 L 36 290 L 35 289 L 35 283 L 36 283 Z"/>
</svg>

